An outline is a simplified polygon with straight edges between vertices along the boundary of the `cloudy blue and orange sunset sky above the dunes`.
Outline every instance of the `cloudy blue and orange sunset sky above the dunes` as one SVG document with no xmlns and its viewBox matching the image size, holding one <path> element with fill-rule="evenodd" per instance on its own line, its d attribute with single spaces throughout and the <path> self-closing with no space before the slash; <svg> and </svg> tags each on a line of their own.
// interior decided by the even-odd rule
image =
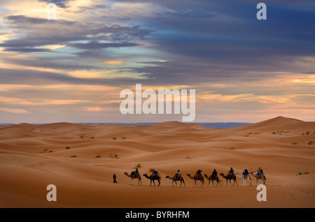
<svg viewBox="0 0 315 222">
<path fill-rule="evenodd" d="M 181 121 L 122 114 L 136 84 L 195 89 L 195 122 L 315 121 L 315 1 L 0 0 L 0 123 Z"/>
</svg>

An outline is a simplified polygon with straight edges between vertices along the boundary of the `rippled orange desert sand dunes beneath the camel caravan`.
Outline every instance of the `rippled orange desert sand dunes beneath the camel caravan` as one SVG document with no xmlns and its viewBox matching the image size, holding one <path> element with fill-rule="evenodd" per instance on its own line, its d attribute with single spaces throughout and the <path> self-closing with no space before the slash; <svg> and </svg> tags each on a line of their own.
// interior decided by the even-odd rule
<svg viewBox="0 0 315 222">
<path fill-rule="evenodd" d="M 141 186 L 124 175 L 137 166 Z M 252 186 L 238 177 L 239 186 L 225 186 L 220 177 L 222 186 L 205 179 L 195 187 L 187 176 L 198 168 L 226 175 L 231 167 L 239 174 L 262 168 L 267 201 L 256 199 L 254 178 Z M 142 176 L 155 168 L 161 186 Z M 178 169 L 186 187 L 165 178 Z M 0 126 L 0 171 L 0 207 L 315 207 L 315 122 L 276 117 L 228 129 L 177 121 Z M 48 184 L 57 187 L 56 202 L 46 200 Z"/>
</svg>

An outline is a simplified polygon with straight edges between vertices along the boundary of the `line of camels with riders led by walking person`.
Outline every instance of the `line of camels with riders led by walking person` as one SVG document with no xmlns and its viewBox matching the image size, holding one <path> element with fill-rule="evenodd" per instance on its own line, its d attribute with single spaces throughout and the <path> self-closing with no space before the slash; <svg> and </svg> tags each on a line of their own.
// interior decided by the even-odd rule
<svg viewBox="0 0 315 222">
<path fill-rule="evenodd" d="M 138 185 L 142 184 L 141 176 L 139 174 L 138 168 L 136 168 L 136 170 L 131 172 L 130 175 L 127 172 L 124 172 L 124 174 L 127 177 L 131 178 L 130 179 L 130 183 L 131 184 L 134 184 L 134 179 L 138 179 Z M 161 186 L 161 179 L 162 179 L 162 177 L 158 173 L 157 169 L 154 170 L 152 175 L 148 176 L 147 174 L 144 174 L 143 176 L 146 177 L 147 179 L 150 179 L 150 186 L 152 186 L 152 182 L 153 182 L 153 184 L 155 186 L 155 181 L 158 181 L 158 186 Z M 212 174 L 209 177 L 206 174 L 203 176 L 202 175 L 202 170 L 200 170 L 200 169 L 198 169 L 197 172 L 195 172 L 195 175 L 193 177 L 190 174 L 187 174 L 187 176 L 190 179 L 193 179 L 195 181 L 195 186 L 198 186 L 197 182 L 201 183 L 200 186 L 204 186 L 204 178 L 209 180 L 208 186 L 210 185 L 211 182 L 212 182 L 213 186 L 214 186 L 214 182 L 216 182 L 216 186 L 218 186 L 218 185 L 221 186 L 221 180 L 218 177 L 218 172 L 216 171 L 216 169 L 214 169 L 214 172 L 212 172 Z M 230 183 L 230 186 L 232 186 L 232 182 L 233 182 L 233 186 L 235 186 L 235 184 L 237 186 L 239 186 L 239 184 L 237 183 L 237 177 L 239 177 L 239 178 L 241 178 L 243 180 L 243 186 L 244 185 L 247 186 L 246 179 L 248 180 L 248 182 L 250 182 L 249 186 L 251 186 L 251 178 L 255 178 L 256 179 L 256 184 L 260 184 L 259 179 L 262 180 L 264 185 L 265 185 L 265 183 L 267 181 L 267 179 L 266 179 L 264 173 L 262 172 L 261 168 L 259 168 L 258 171 L 255 174 L 253 172 L 248 172 L 248 170 L 245 168 L 245 170 L 242 173 L 242 175 L 239 175 L 238 172 L 234 172 L 234 169 L 231 168 L 228 171 L 227 175 L 224 175 L 223 173 L 221 173 L 220 176 L 223 177 L 223 179 L 225 179 L 225 181 L 226 181 L 225 182 L 225 186 L 228 186 L 228 183 Z M 165 178 L 172 180 L 172 186 L 174 186 L 174 182 L 175 182 L 175 186 L 177 186 L 177 182 L 181 182 L 181 185 L 183 184 L 183 186 L 186 186 L 186 184 L 184 182 L 184 179 L 183 179 L 183 176 L 181 175 L 180 170 L 177 170 L 177 173 L 173 177 L 169 177 L 167 175 Z M 232 180 L 232 182 L 231 182 L 231 180 Z M 116 182 L 116 178 L 114 179 L 114 181 Z M 223 183 L 223 181 L 222 181 L 222 183 Z M 181 185 L 179 185 L 179 186 L 181 186 Z"/>
</svg>

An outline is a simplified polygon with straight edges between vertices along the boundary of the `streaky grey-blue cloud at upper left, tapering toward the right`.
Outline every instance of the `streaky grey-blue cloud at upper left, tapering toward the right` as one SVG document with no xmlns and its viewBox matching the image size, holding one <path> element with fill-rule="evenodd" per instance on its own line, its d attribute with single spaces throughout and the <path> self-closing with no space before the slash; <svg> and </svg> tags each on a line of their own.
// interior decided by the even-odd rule
<svg viewBox="0 0 315 222">
<path fill-rule="evenodd" d="M 6 50 L 12 51 L 21 51 L 22 48 L 27 51 L 31 50 L 32 47 L 43 45 L 66 45 L 80 49 L 132 47 L 137 45 L 132 41 L 143 39 L 151 34 L 151 31 L 141 29 L 139 26 L 47 20 L 25 15 L 10 15 L 6 17 L 6 21 L 11 29 L 17 29 L 23 33 L 23 35 L 15 36 L 15 38 L 4 40 L 0 44 Z M 87 43 L 78 43 L 78 41 L 86 41 Z"/>
</svg>

